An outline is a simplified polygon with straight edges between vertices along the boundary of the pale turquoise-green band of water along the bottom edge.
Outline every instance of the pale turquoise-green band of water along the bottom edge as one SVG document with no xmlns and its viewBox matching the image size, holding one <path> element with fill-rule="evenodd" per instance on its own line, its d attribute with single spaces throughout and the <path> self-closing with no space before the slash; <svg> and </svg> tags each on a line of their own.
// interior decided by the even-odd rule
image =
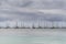
<svg viewBox="0 0 66 44">
<path fill-rule="evenodd" d="M 66 44 L 65 36 L 0 36 L 0 44 Z"/>
</svg>

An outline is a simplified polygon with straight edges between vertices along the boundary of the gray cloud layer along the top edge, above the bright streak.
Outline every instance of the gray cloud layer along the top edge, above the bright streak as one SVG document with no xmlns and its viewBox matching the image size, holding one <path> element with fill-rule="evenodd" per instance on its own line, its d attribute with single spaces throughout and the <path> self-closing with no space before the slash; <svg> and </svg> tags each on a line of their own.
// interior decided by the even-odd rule
<svg viewBox="0 0 66 44">
<path fill-rule="evenodd" d="M 4 1 L 4 0 L 3 0 Z M 65 0 L 6 0 L 10 6 L 38 9 L 65 9 Z"/>
</svg>

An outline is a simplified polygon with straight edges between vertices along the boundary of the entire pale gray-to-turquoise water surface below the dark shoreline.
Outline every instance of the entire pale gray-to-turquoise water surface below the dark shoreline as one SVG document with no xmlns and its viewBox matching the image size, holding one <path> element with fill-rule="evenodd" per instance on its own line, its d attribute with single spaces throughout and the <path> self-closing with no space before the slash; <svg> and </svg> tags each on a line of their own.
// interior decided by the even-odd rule
<svg viewBox="0 0 66 44">
<path fill-rule="evenodd" d="M 9 35 L 12 33 L 14 34 Z M 0 44 L 66 44 L 66 30 L 31 30 L 30 31 L 30 30 L 2 29 L 0 30 L 0 34 L 1 34 Z M 23 36 L 24 34 L 25 36 Z"/>
</svg>

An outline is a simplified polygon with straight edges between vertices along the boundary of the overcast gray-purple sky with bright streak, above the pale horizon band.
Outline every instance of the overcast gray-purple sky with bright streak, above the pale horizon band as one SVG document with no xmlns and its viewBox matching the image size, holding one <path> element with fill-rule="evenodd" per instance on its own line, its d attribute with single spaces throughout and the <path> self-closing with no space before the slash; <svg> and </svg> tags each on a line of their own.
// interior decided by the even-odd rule
<svg viewBox="0 0 66 44">
<path fill-rule="evenodd" d="M 66 0 L 0 0 L 0 22 L 66 21 Z"/>
</svg>

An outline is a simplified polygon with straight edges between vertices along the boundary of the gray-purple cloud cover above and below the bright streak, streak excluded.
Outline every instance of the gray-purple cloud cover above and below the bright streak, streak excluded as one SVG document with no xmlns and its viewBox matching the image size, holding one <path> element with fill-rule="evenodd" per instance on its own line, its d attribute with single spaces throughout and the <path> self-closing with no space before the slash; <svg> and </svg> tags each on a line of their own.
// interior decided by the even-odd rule
<svg viewBox="0 0 66 44">
<path fill-rule="evenodd" d="M 66 21 L 66 15 L 61 14 L 44 14 L 41 12 L 23 12 L 16 8 L 33 8 L 33 9 L 65 9 L 65 0 L 0 0 L 0 18 L 1 21 L 6 20 L 30 20 L 36 21 L 37 19 L 48 21 Z"/>
</svg>

